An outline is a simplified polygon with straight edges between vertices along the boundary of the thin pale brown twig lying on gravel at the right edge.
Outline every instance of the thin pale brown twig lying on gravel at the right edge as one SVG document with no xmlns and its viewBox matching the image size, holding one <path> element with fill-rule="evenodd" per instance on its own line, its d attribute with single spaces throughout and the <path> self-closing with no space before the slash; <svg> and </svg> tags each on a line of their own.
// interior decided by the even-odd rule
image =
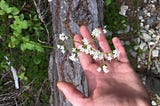
<svg viewBox="0 0 160 106">
<path fill-rule="evenodd" d="M 160 41 L 160 36 L 158 36 L 156 38 L 156 42 L 155 44 L 151 47 L 151 49 L 149 50 L 149 58 L 148 58 L 148 71 L 151 69 L 151 58 L 152 58 L 152 51 L 154 50 L 154 48 L 158 45 L 158 42 Z"/>
</svg>

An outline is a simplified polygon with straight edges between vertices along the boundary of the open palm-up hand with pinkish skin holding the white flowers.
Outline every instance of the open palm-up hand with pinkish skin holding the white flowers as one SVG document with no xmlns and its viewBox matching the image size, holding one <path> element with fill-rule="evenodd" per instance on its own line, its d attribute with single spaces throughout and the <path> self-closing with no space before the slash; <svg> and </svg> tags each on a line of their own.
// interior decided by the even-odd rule
<svg viewBox="0 0 160 106">
<path fill-rule="evenodd" d="M 102 30 L 97 38 L 103 52 L 111 52 Z M 92 41 L 91 34 L 86 26 L 80 27 L 81 35 L 75 35 L 75 47 L 82 45 L 82 39 Z M 112 39 L 116 50 L 120 51 L 118 60 L 106 61 L 107 74 L 97 72 L 100 64 L 91 56 L 80 53 L 79 60 L 87 78 L 89 96 L 78 91 L 71 83 L 58 82 L 58 88 L 74 106 L 150 106 L 148 94 L 139 77 L 131 68 L 125 49 L 117 37 Z M 94 42 L 91 45 L 96 49 Z"/>
</svg>

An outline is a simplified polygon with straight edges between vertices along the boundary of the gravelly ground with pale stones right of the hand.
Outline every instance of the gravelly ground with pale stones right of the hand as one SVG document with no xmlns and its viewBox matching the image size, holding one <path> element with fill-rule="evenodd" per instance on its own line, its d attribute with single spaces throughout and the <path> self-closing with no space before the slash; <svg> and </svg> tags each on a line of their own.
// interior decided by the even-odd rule
<svg viewBox="0 0 160 106">
<path fill-rule="evenodd" d="M 134 42 L 127 49 L 131 64 L 148 89 L 152 105 L 160 106 L 160 0 L 131 1 L 121 3 L 122 15 L 129 22 L 129 37 L 122 39 L 126 47 Z"/>
</svg>

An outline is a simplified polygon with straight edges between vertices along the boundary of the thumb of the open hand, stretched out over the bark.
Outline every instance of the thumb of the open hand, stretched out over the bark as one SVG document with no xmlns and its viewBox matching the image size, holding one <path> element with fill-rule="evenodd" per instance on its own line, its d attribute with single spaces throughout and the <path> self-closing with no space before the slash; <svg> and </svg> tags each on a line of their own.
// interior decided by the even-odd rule
<svg viewBox="0 0 160 106">
<path fill-rule="evenodd" d="M 78 91 L 75 86 L 67 82 L 58 82 L 57 86 L 73 105 L 79 106 L 82 104 L 85 95 Z"/>
</svg>

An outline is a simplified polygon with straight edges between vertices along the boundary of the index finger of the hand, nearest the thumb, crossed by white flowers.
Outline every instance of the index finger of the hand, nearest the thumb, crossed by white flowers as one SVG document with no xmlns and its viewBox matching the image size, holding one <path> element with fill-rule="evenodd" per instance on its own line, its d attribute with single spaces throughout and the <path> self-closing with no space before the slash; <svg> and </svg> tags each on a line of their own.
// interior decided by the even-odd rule
<svg viewBox="0 0 160 106">
<path fill-rule="evenodd" d="M 78 48 L 82 45 L 82 37 L 79 35 L 74 36 L 75 47 Z M 88 66 L 93 63 L 93 59 L 90 55 L 83 52 L 79 53 L 79 60 L 84 70 L 87 70 Z"/>
</svg>

